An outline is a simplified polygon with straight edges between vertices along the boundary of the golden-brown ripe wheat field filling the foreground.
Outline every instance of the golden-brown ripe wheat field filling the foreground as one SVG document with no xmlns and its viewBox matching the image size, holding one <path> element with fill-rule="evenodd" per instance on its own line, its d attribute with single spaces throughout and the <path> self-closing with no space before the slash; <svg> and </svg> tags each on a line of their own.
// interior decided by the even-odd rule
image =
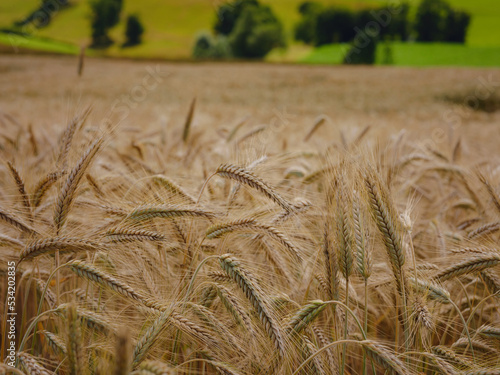
<svg viewBox="0 0 500 375">
<path fill-rule="evenodd" d="M 500 373 L 498 71 L 0 71 L 0 373 Z"/>
</svg>

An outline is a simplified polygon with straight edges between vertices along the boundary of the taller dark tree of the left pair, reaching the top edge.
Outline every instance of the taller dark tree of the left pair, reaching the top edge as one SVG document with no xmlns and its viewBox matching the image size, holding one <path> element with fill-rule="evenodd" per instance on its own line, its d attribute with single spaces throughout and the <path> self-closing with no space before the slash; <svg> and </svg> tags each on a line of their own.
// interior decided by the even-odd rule
<svg viewBox="0 0 500 375">
<path fill-rule="evenodd" d="M 120 21 L 122 0 L 92 0 L 90 2 L 92 44 L 94 48 L 106 48 L 113 44 L 108 31 Z"/>
</svg>

